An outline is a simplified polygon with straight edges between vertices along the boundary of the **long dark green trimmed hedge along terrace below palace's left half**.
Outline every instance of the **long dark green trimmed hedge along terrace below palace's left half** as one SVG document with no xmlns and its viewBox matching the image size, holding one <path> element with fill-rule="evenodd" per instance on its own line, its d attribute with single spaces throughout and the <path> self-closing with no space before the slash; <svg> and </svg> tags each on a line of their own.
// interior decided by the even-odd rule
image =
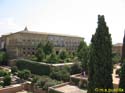
<svg viewBox="0 0 125 93">
<path fill-rule="evenodd" d="M 16 66 L 20 70 L 28 69 L 31 73 L 37 75 L 49 75 L 51 71 L 50 66 L 46 64 L 40 64 L 39 62 L 24 59 L 16 60 Z"/>
</svg>

